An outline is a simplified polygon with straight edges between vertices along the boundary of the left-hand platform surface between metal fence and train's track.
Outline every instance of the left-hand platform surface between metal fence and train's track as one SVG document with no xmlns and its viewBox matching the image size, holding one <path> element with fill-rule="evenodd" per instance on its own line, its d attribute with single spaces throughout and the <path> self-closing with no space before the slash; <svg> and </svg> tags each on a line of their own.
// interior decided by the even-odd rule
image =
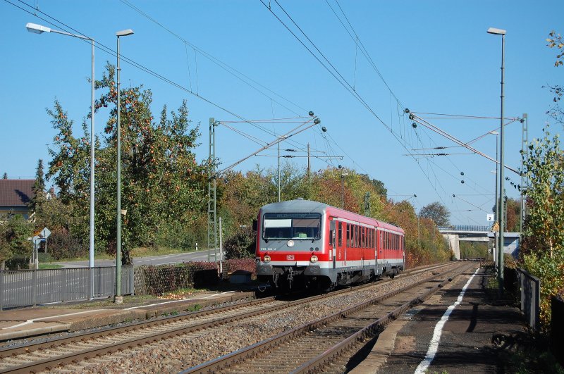
<svg viewBox="0 0 564 374">
<path fill-rule="evenodd" d="M 111 308 L 65 308 L 37 306 L 0 311 L 0 341 L 44 335 L 50 332 L 77 331 L 114 323 L 144 320 L 169 313 L 187 311 L 194 306 L 209 306 L 252 297 L 254 292 L 204 292 L 181 300 L 152 300 L 142 305 L 116 304 Z M 96 303 L 90 303 L 96 304 Z M 75 306 L 80 306 L 77 304 Z"/>
</svg>

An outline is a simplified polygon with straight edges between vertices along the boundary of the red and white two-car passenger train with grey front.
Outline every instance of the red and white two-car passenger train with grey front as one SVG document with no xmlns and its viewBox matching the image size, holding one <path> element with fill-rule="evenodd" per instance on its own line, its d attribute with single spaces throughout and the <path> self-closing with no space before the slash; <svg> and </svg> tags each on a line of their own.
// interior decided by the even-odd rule
<svg viewBox="0 0 564 374">
<path fill-rule="evenodd" d="M 317 201 L 263 206 L 257 279 L 274 287 L 331 289 L 394 275 L 405 266 L 404 231 Z"/>
</svg>

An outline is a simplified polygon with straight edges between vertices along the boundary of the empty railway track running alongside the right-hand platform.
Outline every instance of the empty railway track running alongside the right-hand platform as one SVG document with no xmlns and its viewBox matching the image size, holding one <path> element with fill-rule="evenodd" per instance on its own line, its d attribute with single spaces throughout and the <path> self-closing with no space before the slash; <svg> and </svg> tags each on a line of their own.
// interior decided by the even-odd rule
<svg viewBox="0 0 564 374">
<path fill-rule="evenodd" d="M 345 373 L 348 359 L 363 342 L 471 268 L 462 264 L 182 373 Z"/>
</svg>

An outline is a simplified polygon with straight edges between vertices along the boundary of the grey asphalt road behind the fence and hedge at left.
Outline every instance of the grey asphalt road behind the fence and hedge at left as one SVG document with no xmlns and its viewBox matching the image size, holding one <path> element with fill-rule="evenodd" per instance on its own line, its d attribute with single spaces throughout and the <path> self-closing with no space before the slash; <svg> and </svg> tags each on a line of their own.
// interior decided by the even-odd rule
<svg viewBox="0 0 564 374">
<path fill-rule="evenodd" d="M 210 260 L 214 261 L 214 251 L 210 251 Z M 207 261 L 208 251 L 194 251 L 186 252 L 183 254 L 165 254 L 162 256 L 147 256 L 147 257 L 134 257 L 133 266 L 142 265 L 166 265 L 169 263 L 181 263 L 188 261 Z M 219 252 L 217 254 L 217 259 L 219 260 Z M 57 264 L 62 265 L 65 268 L 86 268 L 88 267 L 88 261 L 66 261 L 57 262 Z M 94 266 L 115 266 L 116 260 L 94 260 Z"/>
</svg>

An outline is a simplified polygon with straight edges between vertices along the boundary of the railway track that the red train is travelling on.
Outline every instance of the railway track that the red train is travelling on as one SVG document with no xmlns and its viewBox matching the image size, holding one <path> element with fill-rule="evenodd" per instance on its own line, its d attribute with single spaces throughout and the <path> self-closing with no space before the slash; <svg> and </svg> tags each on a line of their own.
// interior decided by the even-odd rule
<svg viewBox="0 0 564 374">
<path fill-rule="evenodd" d="M 446 265 L 452 266 L 452 265 Z M 431 270 L 440 270 L 436 266 Z M 53 339 L 39 344 L 0 350 L 0 373 L 30 373 L 42 370 L 57 372 L 78 372 L 94 370 L 96 366 L 107 363 L 106 356 L 115 352 L 126 354 L 165 339 L 205 339 L 214 330 L 225 330 L 235 321 L 250 320 L 256 316 L 282 313 L 284 310 L 303 308 L 304 305 L 322 300 L 342 297 L 346 294 L 363 292 L 383 285 L 393 285 L 400 279 L 421 276 L 419 270 L 405 274 L 393 281 L 377 282 L 350 289 L 342 289 L 331 294 L 317 295 L 297 301 L 281 301 L 275 297 L 249 301 L 234 306 L 214 308 L 209 311 L 188 313 L 184 316 L 161 318 L 152 322 L 137 323 L 121 328 L 109 328 L 74 337 Z M 290 312 L 291 313 L 291 312 Z M 166 346 L 165 346 L 166 347 Z M 166 348 L 165 348 L 166 349 Z M 184 366 L 186 367 L 186 366 Z M 94 370 L 95 371 L 95 370 Z M 119 371 L 119 370 L 117 370 Z"/>
</svg>

